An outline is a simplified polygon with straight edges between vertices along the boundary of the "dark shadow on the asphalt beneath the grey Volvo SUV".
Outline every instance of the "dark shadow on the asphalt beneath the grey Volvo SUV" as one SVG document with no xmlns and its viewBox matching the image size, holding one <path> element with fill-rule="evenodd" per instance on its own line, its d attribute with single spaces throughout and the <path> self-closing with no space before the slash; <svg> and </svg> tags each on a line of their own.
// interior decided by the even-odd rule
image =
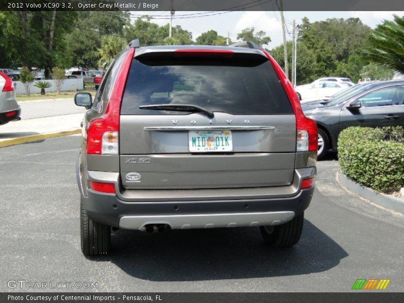
<svg viewBox="0 0 404 303">
<path fill-rule="evenodd" d="M 302 275 L 329 270 L 348 256 L 305 220 L 297 245 L 268 247 L 258 228 L 171 230 L 164 234 L 119 230 L 109 261 L 149 281 L 199 281 Z"/>
</svg>

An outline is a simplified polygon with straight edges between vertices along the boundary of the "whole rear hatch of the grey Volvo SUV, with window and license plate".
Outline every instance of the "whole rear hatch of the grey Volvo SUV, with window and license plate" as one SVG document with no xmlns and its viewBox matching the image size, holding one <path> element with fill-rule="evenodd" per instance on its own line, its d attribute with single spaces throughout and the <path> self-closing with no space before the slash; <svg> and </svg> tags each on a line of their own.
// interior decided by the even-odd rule
<svg viewBox="0 0 404 303">
<path fill-rule="evenodd" d="M 295 116 L 261 51 L 136 54 L 121 106 L 124 188 L 291 184 Z"/>
</svg>

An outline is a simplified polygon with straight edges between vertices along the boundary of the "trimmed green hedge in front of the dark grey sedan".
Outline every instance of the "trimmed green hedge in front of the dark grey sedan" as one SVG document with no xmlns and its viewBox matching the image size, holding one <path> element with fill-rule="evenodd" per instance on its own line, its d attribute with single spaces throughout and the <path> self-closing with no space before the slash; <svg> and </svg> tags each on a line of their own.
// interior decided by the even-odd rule
<svg viewBox="0 0 404 303">
<path fill-rule="evenodd" d="M 404 187 L 404 128 L 349 127 L 338 137 L 342 172 L 378 192 Z"/>
</svg>

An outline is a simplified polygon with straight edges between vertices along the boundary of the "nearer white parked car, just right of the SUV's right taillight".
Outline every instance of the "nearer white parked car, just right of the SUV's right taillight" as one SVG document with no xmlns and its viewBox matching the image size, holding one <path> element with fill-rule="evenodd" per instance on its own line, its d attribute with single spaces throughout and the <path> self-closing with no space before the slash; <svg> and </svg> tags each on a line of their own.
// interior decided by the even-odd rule
<svg viewBox="0 0 404 303">
<path fill-rule="evenodd" d="M 330 96 L 349 86 L 347 82 L 315 81 L 310 85 L 298 85 L 295 90 L 300 100 L 313 100 Z"/>
</svg>

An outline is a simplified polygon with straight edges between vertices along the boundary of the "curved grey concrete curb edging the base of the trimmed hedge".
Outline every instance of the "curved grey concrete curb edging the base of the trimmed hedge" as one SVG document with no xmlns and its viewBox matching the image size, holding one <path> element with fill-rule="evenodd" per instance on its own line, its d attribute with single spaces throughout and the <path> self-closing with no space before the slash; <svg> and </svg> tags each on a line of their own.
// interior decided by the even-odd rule
<svg viewBox="0 0 404 303">
<path fill-rule="evenodd" d="M 362 186 L 345 176 L 341 170 L 338 171 L 338 176 L 341 184 L 348 190 L 353 191 L 368 200 L 371 200 L 374 204 L 404 214 L 404 198 L 386 195 L 384 193 L 376 192 L 371 188 Z"/>
</svg>

